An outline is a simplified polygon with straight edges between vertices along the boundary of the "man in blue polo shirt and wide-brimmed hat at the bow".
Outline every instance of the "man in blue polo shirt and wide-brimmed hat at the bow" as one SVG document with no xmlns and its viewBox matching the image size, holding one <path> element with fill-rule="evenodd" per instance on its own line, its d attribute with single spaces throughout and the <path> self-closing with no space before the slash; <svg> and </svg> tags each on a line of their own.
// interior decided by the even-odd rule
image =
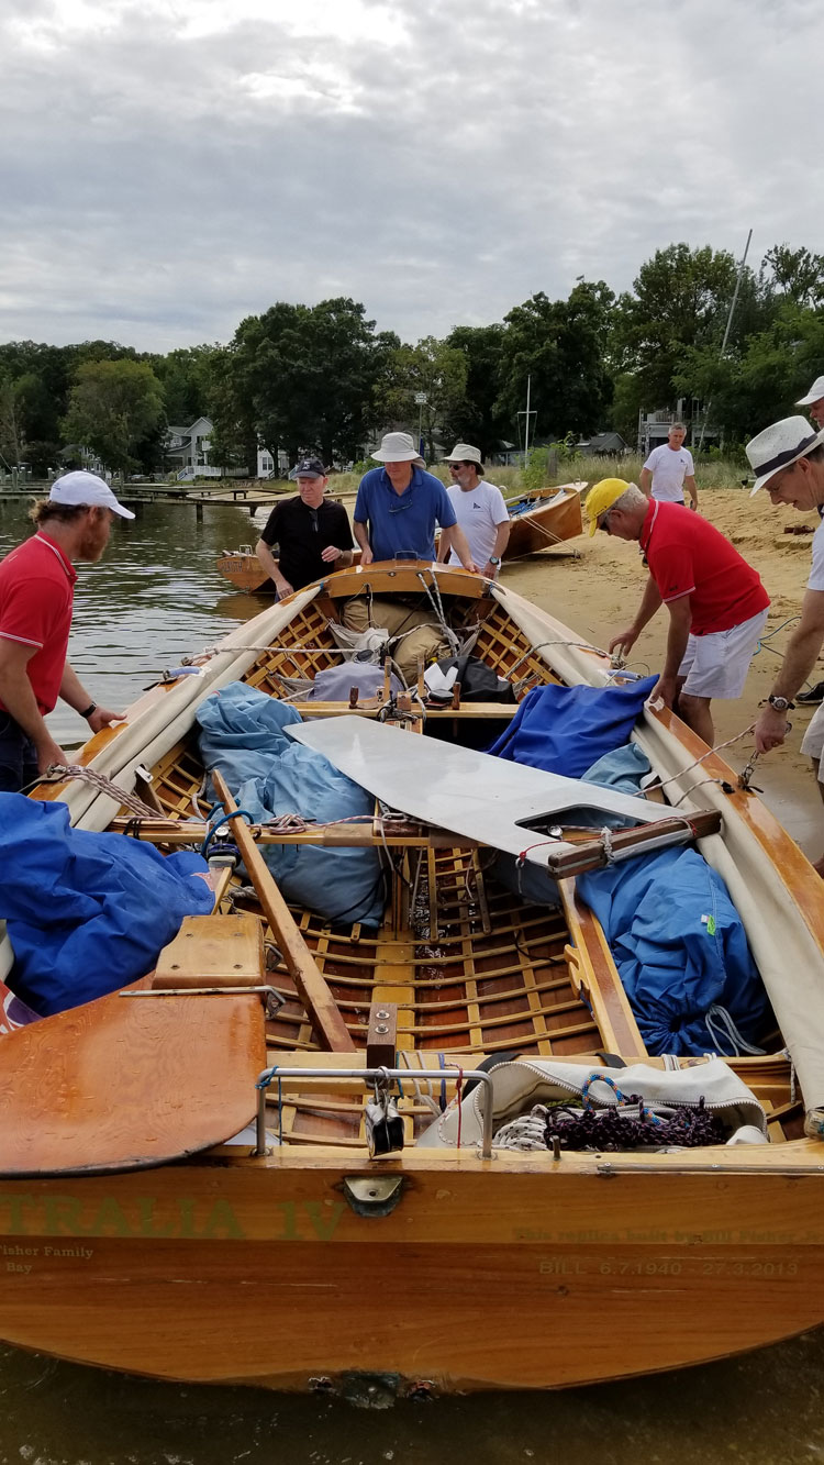
<svg viewBox="0 0 824 1465">
<path fill-rule="evenodd" d="M 408 432 L 386 432 L 372 457 L 383 467 L 364 473 L 354 505 L 362 564 L 373 560 L 435 560 L 435 524 L 464 570 L 477 574 L 467 538 L 441 479 L 424 470 Z"/>
</svg>

